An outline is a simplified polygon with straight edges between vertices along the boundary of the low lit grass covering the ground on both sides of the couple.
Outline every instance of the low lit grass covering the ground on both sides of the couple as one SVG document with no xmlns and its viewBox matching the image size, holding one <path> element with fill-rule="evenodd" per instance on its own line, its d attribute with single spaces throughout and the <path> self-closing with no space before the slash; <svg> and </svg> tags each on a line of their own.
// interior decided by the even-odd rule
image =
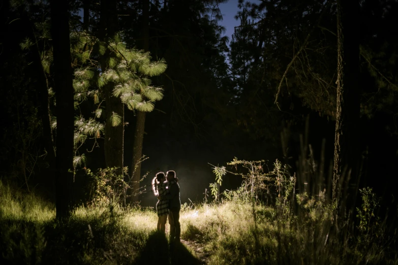
<svg viewBox="0 0 398 265">
<path fill-rule="evenodd" d="M 295 214 L 260 203 L 253 211 L 241 196 L 186 208 L 181 238 L 197 249 L 170 246 L 148 210 L 80 207 L 59 223 L 51 203 L 1 181 L 0 200 L 1 264 L 398 264 L 383 229 L 366 230 L 365 242 L 310 199 Z"/>
</svg>

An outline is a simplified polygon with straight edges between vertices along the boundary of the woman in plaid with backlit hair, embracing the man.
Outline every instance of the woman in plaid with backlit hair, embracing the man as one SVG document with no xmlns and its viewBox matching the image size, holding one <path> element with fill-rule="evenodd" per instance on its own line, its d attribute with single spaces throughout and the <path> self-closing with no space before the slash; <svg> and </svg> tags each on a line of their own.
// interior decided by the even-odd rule
<svg viewBox="0 0 398 265">
<path fill-rule="evenodd" d="M 168 182 L 166 181 L 165 174 L 163 172 L 156 174 L 156 177 L 152 179 L 152 191 L 155 196 L 166 196 L 168 194 L 167 185 Z M 159 199 L 156 204 L 156 211 L 159 218 L 157 230 L 165 233 L 167 216 L 169 214 L 169 201 L 166 198 Z"/>
</svg>

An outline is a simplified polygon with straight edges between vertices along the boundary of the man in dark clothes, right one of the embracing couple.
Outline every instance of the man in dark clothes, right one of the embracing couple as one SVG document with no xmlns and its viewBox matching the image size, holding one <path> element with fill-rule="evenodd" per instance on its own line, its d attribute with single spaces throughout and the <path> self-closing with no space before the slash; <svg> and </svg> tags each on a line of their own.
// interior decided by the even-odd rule
<svg viewBox="0 0 398 265">
<path fill-rule="evenodd" d="M 179 223 L 179 211 L 181 209 L 181 201 L 179 197 L 178 178 L 175 172 L 170 170 L 166 173 L 168 181 L 167 189 L 169 194 L 162 196 L 169 200 L 169 224 L 170 224 L 170 242 L 180 242 L 181 226 Z M 159 200 L 161 196 L 158 196 Z"/>
</svg>

